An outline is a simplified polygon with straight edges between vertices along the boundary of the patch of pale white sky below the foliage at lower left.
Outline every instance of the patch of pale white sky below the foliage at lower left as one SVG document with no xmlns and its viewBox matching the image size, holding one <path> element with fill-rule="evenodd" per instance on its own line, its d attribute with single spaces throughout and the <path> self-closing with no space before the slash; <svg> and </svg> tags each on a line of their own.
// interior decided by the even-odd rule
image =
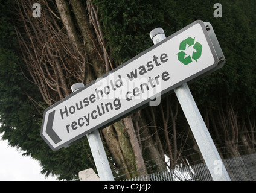
<svg viewBox="0 0 256 193">
<path fill-rule="evenodd" d="M 29 156 L 22 156 L 16 147 L 8 145 L 0 134 L 0 181 L 56 181 L 57 177 L 45 178 L 40 173 L 39 162 Z"/>
</svg>

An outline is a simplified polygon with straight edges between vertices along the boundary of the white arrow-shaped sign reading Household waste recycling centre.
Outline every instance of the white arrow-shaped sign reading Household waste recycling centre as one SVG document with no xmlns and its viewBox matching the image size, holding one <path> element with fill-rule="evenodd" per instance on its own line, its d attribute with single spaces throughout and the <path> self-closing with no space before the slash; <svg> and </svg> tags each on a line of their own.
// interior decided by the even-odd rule
<svg viewBox="0 0 256 193">
<path fill-rule="evenodd" d="M 195 21 L 46 109 L 40 135 L 53 150 L 65 147 L 206 74 L 218 62 L 205 25 Z"/>
</svg>

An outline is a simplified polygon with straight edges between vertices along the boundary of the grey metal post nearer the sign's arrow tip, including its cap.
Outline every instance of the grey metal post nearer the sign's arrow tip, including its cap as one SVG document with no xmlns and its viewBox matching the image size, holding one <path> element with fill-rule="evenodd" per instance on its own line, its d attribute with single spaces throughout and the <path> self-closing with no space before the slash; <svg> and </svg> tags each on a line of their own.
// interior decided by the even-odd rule
<svg viewBox="0 0 256 193">
<path fill-rule="evenodd" d="M 81 89 L 84 86 L 83 83 L 73 84 L 71 89 L 72 92 Z M 114 177 L 109 165 L 109 160 L 107 160 L 107 155 L 103 147 L 103 143 L 100 138 L 100 133 L 98 130 L 94 130 L 87 134 L 87 139 L 92 151 L 92 156 L 94 157 L 94 162 L 98 171 L 98 176 L 101 181 L 114 181 Z"/>
</svg>

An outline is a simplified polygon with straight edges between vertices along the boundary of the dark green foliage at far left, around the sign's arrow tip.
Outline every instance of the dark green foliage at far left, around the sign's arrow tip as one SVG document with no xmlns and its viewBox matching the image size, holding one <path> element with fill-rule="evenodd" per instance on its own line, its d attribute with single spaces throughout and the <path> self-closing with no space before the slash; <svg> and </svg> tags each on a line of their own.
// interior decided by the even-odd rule
<svg viewBox="0 0 256 193">
<path fill-rule="evenodd" d="M 13 25 L 14 1 L 0 4 L 0 132 L 9 145 L 40 161 L 42 173 L 56 174 L 60 180 L 72 180 L 78 172 L 95 168 L 88 142 L 52 151 L 40 137 L 42 114 L 46 109 L 37 86 L 19 57 Z M 24 76 L 25 75 L 25 76 Z"/>
</svg>

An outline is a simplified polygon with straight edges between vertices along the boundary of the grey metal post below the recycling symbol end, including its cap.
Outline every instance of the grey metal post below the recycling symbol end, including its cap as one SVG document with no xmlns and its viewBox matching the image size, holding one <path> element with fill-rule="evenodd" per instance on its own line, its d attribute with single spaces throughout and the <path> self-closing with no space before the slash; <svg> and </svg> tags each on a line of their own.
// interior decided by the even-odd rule
<svg viewBox="0 0 256 193">
<path fill-rule="evenodd" d="M 152 30 L 150 37 L 154 44 L 166 38 L 162 28 Z M 179 100 L 179 104 L 181 104 L 211 177 L 213 177 L 214 181 L 230 181 L 228 172 L 203 121 L 202 115 L 196 106 L 196 102 L 194 101 L 187 83 L 176 87 L 174 92 Z"/>
</svg>

